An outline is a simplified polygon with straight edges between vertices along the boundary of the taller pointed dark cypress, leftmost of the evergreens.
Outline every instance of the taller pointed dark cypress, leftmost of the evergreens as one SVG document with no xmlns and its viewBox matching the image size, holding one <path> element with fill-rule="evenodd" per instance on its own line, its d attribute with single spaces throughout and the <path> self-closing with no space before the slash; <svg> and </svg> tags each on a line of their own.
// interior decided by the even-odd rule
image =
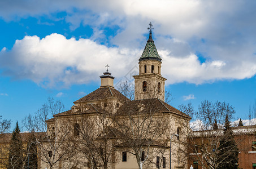
<svg viewBox="0 0 256 169">
<path fill-rule="evenodd" d="M 12 132 L 11 144 L 9 148 L 8 168 L 20 169 L 23 167 L 23 148 L 20 136 L 20 129 L 18 122 L 15 130 Z"/>
</svg>

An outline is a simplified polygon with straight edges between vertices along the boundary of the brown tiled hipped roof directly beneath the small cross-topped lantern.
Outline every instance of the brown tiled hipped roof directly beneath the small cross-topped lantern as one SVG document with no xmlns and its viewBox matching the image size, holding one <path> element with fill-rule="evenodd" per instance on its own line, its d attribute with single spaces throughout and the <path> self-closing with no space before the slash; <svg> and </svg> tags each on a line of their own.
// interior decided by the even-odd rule
<svg viewBox="0 0 256 169">
<path fill-rule="evenodd" d="M 115 90 L 115 88 L 100 87 L 97 90 L 91 92 L 90 94 L 82 97 L 81 99 L 74 101 L 74 103 L 85 102 L 90 100 L 103 100 L 103 99 L 109 99 L 111 97 L 114 97 L 120 100 L 128 100 L 127 97 L 122 95 L 119 91 Z"/>
</svg>

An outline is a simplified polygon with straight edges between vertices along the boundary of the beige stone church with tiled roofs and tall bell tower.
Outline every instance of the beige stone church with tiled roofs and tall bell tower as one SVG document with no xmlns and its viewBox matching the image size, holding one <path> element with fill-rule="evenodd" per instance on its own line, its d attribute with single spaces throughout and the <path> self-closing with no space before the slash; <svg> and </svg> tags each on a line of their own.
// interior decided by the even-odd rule
<svg viewBox="0 0 256 169">
<path fill-rule="evenodd" d="M 178 145 L 186 142 L 183 127 L 189 128 L 190 117 L 164 102 L 167 79 L 151 24 L 149 29 L 133 76 L 134 100 L 125 87 L 116 90 L 107 65 L 97 90 L 47 121 L 47 135 L 55 142 L 42 145 L 48 154 L 41 153 L 40 168 L 188 168 Z"/>
</svg>

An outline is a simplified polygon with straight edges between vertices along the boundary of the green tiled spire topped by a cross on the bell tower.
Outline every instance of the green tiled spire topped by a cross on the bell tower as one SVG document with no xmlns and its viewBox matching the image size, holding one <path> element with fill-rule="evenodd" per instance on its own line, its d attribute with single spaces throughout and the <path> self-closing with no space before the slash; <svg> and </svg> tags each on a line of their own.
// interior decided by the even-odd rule
<svg viewBox="0 0 256 169">
<path fill-rule="evenodd" d="M 152 38 L 152 29 L 154 29 L 154 28 L 151 23 L 149 25 L 150 25 L 150 27 L 147 28 L 147 29 L 149 29 L 149 39 L 147 40 L 146 46 L 144 48 L 144 51 L 143 51 L 139 61 L 141 61 L 141 60 L 161 61 L 162 59 L 157 52 L 157 47 L 155 47 L 155 44 L 154 44 L 154 41 Z"/>
</svg>

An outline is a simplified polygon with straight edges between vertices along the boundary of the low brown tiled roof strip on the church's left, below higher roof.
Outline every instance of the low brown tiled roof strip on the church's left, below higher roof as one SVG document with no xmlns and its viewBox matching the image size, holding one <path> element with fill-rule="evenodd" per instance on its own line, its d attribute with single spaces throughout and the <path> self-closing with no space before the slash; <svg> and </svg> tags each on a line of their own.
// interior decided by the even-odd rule
<svg viewBox="0 0 256 169">
<path fill-rule="evenodd" d="M 85 113 L 103 113 L 105 110 L 103 110 L 100 106 L 96 104 L 86 104 L 85 105 L 85 111 L 81 112 L 80 110 L 77 112 L 72 113 L 72 110 L 67 110 L 66 112 L 62 112 L 59 114 L 55 114 L 54 117 L 62 116 L 62 115 L 75 115 L 75 114 L 85 114 Z"/>
</svg>

